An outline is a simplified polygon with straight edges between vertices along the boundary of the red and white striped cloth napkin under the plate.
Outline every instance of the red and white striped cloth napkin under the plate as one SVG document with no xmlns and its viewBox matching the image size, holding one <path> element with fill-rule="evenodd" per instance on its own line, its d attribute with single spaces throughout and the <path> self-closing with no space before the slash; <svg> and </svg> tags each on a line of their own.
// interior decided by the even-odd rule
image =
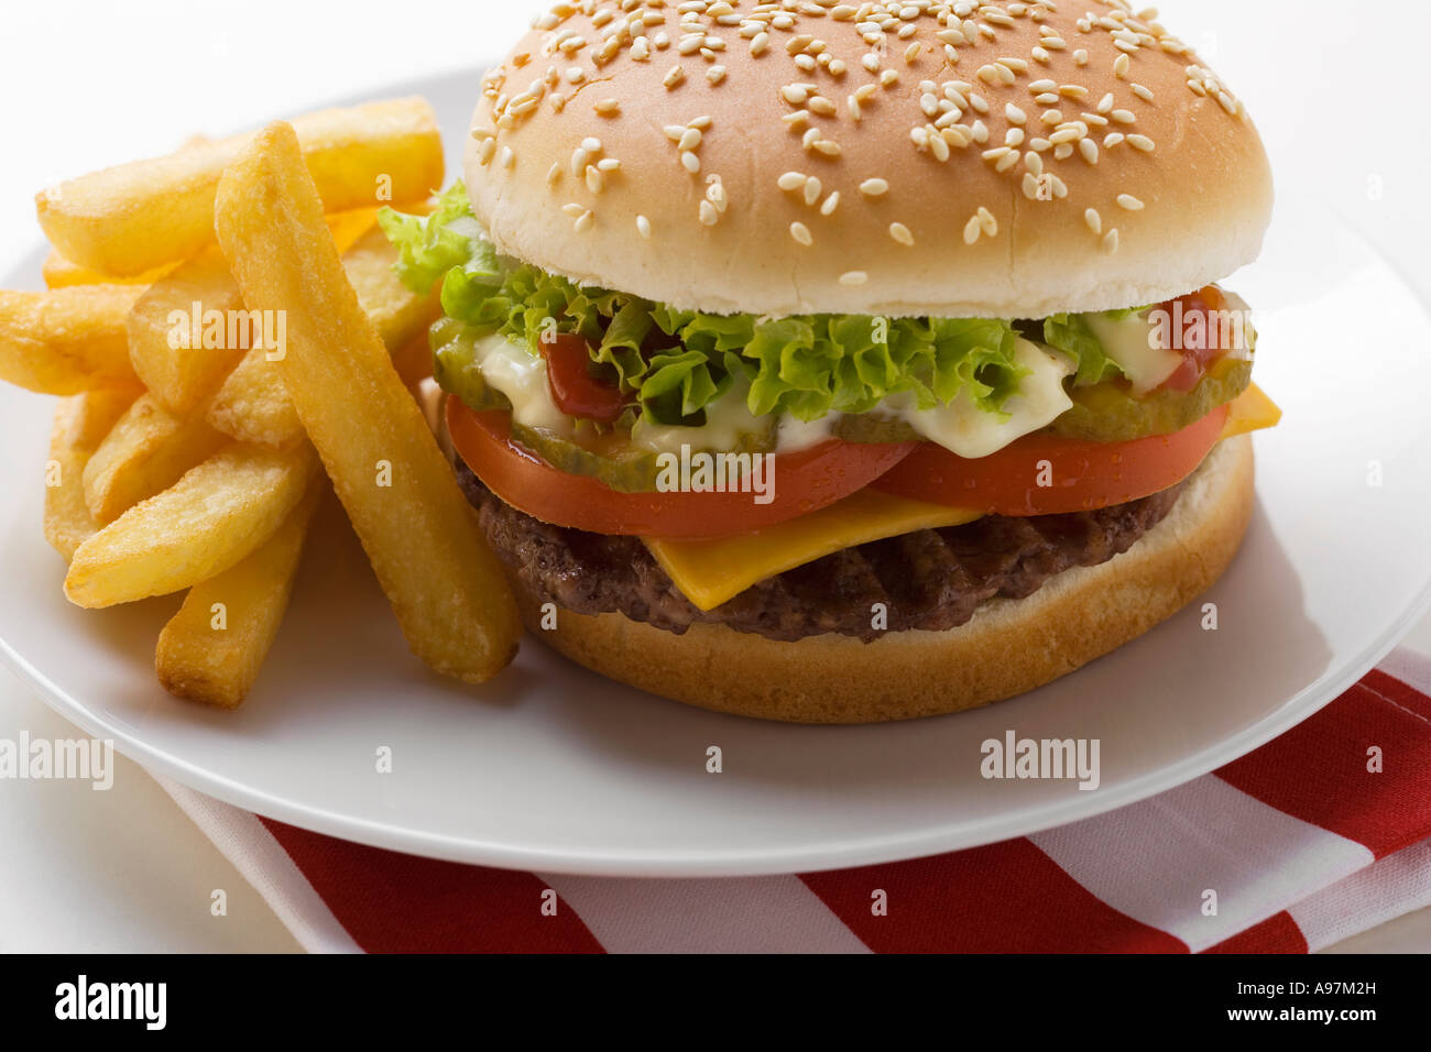
<svg viewBox="0 0 1431 1052">
<path fill-rule="evenodd" d="M 1431 905 L 1428 696 L 1431 660 L 1397 650 L 1282 737 L 1161 796 L 986 847 L 776 877 L 464 866 L 160 783 L 313 952 L 1302 953 Z M 1372 746 L 1384 769 L 1368 777 Z"/>
</svg>

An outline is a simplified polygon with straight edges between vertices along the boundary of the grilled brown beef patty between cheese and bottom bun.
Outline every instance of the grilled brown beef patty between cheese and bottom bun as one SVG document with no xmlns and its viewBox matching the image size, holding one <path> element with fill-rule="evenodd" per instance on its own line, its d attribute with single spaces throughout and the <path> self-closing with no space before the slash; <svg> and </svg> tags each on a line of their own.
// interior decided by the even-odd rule
<svg viewBox="0 0 1431 1052">
<path fill-rule="evenodd" d="M 837 551 L 700 610 L 638 538 L 542 522 L 497 498 L 461 459 L 456 472 L 497 555 L 537 603 L 578 614 L 618 613 L 673 633 L 707 623 L 786 641 L 839 633 L 869 643 L 886 631 L 954 628 L 996 595 L 1032 595 L 1065 570 L 1128 551 L 1182 492 L 1178 484 L 1098 511 L 987 515 L 917 530 Z M 887 611 L 884 630 L 871 627 L 876 603 Z"/>
</svg>

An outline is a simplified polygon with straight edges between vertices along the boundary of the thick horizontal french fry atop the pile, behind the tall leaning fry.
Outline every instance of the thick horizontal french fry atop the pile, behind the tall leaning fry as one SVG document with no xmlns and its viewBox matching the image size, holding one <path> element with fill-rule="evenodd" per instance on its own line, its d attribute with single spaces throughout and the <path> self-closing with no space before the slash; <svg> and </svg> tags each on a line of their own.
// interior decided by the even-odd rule
<svg viewBox="0 0 1431 1052">
<path fill-rule="evenodd" d="M 394 99 L 293 122 L 329 212 L 415 200 L 442 185 L 432 107 Z M 36 196 L 40 226 L 60 253 L 102 273 L 137 275 L 213 243 L 213 196 L 252 136 L 197 143 L 70 179 Z"/>
</svg>

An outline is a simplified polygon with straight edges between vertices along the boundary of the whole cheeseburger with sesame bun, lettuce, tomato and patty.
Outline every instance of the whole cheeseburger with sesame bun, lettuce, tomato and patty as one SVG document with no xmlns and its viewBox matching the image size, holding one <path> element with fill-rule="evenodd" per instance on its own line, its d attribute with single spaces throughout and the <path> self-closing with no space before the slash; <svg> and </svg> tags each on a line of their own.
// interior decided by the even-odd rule
<svg viewBox="0 0 1431 1052">
<path fill-rule="evenodd" d="M 537 638 L 800 723 L 952 713 L 1206 590 L 1254 502 L 1266 156 L 1120 0 L 584 0 L 389 212 Z"/>
</svg>

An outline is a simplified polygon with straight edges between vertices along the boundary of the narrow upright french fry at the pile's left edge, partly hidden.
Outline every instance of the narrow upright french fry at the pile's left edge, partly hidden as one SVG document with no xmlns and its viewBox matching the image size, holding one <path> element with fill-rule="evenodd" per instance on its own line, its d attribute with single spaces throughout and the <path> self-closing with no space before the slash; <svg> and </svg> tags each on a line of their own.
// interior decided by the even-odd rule
<svg viewBox="0 0 1431 1052">
<path fill-rule="evenodd" d="M 44 472 L 44 540 L 66 561 L 99 530 L 84 502 L 84 465 L 133 401 L 133 391 L 87 391 L 54 406 Z"/>
</svg>

